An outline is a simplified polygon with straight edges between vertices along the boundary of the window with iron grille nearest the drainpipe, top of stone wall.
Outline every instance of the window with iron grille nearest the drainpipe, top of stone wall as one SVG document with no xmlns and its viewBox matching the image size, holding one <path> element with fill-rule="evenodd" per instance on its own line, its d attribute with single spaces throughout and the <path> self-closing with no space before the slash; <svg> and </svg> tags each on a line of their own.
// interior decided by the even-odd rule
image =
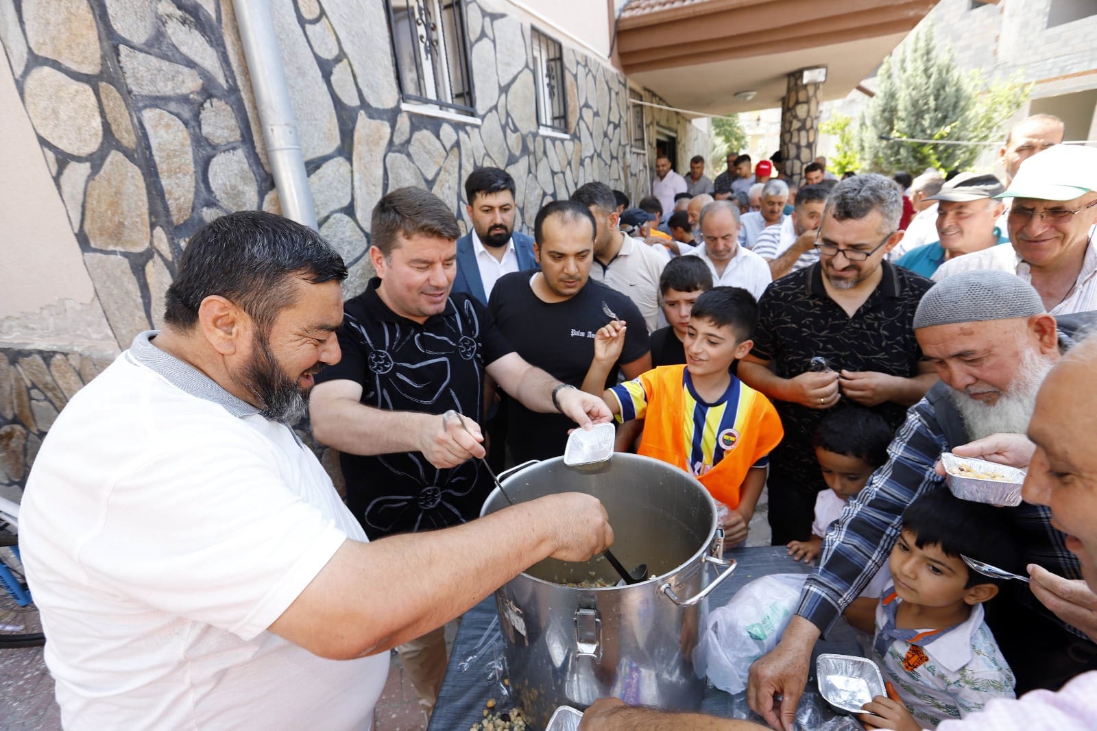
<svg viewBox="0 0 1097 731">
<path fill-rule="evenodd" d="M 462 0 L 386 0 L 405 101 L 474 113 Z"/>
</svg>

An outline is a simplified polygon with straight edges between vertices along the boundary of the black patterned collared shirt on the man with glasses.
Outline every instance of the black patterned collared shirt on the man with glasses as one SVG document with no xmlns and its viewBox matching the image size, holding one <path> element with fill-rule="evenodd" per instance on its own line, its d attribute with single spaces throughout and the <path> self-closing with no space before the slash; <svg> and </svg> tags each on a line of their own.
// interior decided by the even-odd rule
<svg viewBox="0 0 1097 731">
<path fill-rule="evenodd" d="M 914 311 L 932 282 L 886 261 L 881 268 L 880 283 L 852 317 L 827 294 L 819 263 L 774 281 L 758 301 L 750 353 L 772 361 L 782 379 L 811 370 L 816 356 L 826 358 L 836 371 L 916 375 L 923 355 L 914 337 Z M 784 439 L 771 454 L 773 479 L 794 480 L 805 491 L 824 490 L 812 437 L 826 412 L 777 400 L 773 405 L 784 425 Z M 872 411 L 893 429 L 906 415 L 906 406 L 892 402 Z"/>
</svg>

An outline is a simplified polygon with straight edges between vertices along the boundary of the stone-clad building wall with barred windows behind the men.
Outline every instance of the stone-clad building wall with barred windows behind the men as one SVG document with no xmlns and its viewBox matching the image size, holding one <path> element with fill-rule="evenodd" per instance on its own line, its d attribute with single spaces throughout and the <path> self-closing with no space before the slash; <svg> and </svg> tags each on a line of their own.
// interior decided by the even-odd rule
<svg viewBox="0 0 1097 731">
<path fill-rule="evenodd" d="M 466 226 L 464 179 L 505 168 L 529 230 L 588 181 L 648 194 L 659 140 L 680 170 L 708 151 L 704 125 L 630 102 L 661 100 L 610 61 L 608 3 L 257 4 L 348 296 L 373 274 L 370 214 L 389 190 L 429 189 Z M 267 70 L 231 0 L 0 0 L 0 495 L 18 501 L 68 400 L 162 324 L 188 238 L 282 206 L 252 91 Z"/>
</svg>

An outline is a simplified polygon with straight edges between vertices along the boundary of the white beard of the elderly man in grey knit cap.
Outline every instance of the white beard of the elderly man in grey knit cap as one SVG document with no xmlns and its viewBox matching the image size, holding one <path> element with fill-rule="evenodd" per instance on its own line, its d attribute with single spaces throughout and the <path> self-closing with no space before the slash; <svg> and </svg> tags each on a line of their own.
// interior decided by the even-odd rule
<svg viewBox="0 0 1097 731">
<path fill-rule="evenodd" d="M 984 404 L 966 395 L 963 391 L 949 389 L 949 396 L 963 418 L 968 435 L 975 439 L 992 434 L 1025 434 L 1036 408 L 1036 394 L 1040 391 L 1048 371 L 1054 361 L 1027 350 L 1021 356 L 1017 375 L 994 404 Z"/>
</svg>

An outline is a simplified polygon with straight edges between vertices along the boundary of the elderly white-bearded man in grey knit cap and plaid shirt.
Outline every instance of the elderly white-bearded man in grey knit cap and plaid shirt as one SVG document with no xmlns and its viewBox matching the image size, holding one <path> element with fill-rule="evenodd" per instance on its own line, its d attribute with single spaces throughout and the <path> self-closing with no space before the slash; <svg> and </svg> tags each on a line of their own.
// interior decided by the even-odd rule
<svg viewBox="0 0 1097 731">
<path fill-rule="evenodd" d="M 791 728 L 815 640 L 886 560 L 903 509 L 928 491 L 945 490 L 935 470 L 941 452 L 998 432 L 1024 434 L 1040 383 L 1060 349 L 1072 345 L 1031 286 L 997 271 L 936 284 L 919 303 L 914 328 L 941 383 L 909 409 L 887 462 L 827 532 L 823 560 L 804 586 L 796 616 L 778 646 L 750 668 L 750 706 L 773 728 L 779 718 Z M 1021 503 L 1002 509 L 1014 519 L 1027 560 L 1047 570 L 1041 581 L 1056 585 L 1082 577 L 1045 507 Z M 1061 578 L 1049 580 L 1048 572 Z M 986 605 L 986 620 L 1017 677 L 1018 694 L 1058 688 L 1097 668 L 1097 645 L 1086 639 L 1087 632 L 1097 637 L 1097 627 L 1068 625 L 1026 584 L 1004 587 Z M 783 694 L 779 709 L 776 694 Z"/>
</svg>

